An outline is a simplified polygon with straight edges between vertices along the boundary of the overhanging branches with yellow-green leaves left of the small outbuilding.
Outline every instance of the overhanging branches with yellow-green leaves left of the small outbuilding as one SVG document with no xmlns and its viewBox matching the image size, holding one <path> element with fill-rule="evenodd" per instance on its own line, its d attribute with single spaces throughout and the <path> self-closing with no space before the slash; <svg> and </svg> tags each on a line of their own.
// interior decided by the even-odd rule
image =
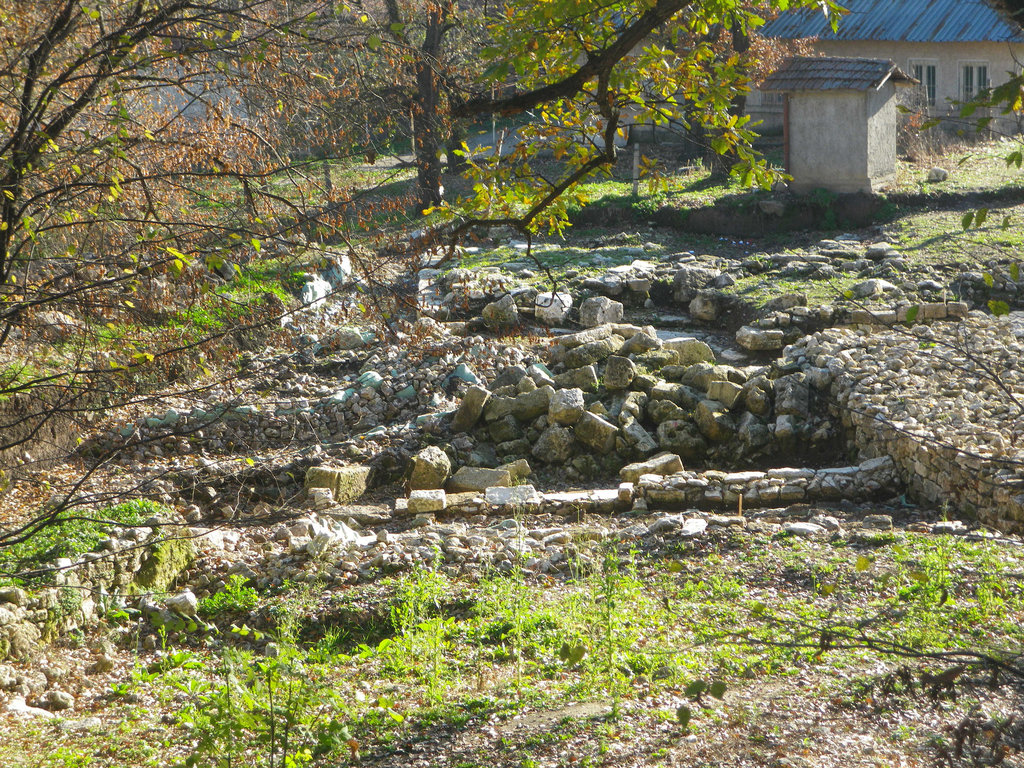
<svg viewBox="0 0 1024 768">
<path fill-rule="evenodd" d="M 830 0 L 791 3 L 767 0 L 773 9 L 814 5 L 834 14 Z M 714 29 L 744 40 L 760 24 L 746 3 L 697 0 L 508 3 L 490 27 L 495 44 L 483 56 L 490 66 L 483 83 L 514 84 L 493 96 L 470 90 L 456 114 L 516 115 L 537 110 L 508 158 L 477 155 L 471 168 L 475 194 L 452 213 L 462 231 L 481 223 L 511 224 L 524 231 L 559 230 L 565 204 L 579 184 L 616 159 L 616 139 L 630 123 L 699 125 L 714 135 L 713 147 L 731 154 L 733 172 L 746 183 L 772 179 L 750 148 L 749 118 L 734 98 L 748 88 L 746 66 L 722 56 Z M 550 153 L 561 166 L 539 169 Z"/>
</svg>

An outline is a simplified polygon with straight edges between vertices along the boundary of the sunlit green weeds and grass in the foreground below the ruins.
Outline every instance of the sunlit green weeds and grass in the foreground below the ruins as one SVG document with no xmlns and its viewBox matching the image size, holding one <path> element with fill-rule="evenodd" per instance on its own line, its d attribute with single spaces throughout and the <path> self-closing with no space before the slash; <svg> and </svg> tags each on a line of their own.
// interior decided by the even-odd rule
<svg viewBox="0 0 1024 768">
<path fill-rule="evenodd" d="M 259 637 L 249 631 L 244 637 L 223 631 L 214 649 L 180 637 L 190 650 L 169 647 L 144 675 L 131 677 L 129 692 L 164 701 L 191 730 L 158 723 L 151 714 L 132 732 L 150 729 L 150 741 L 169 744 L 167 761 L 183 759 L 210 729 L 237 728 L 237 761 L 249 764 L 267 749 L 267 721 L 259 713 L 276 680 L 282 707 L 304 702 L 309 733 L 344 729 L 334 732 L 345 737 L 330 743 L 305 741 L 330 748 L 310 746 L 308 765 L 345 764 L 353 743 L 377 760 L 411 744 L 443 743 L 456 732 L 520 722 L 526 725 L 519 735 L 503 731 L 509 736 L 499 753 L 504 757 L 470 751 L 459 759 L 473 764 L 489 755 L 501 765 L 513 757 L 544 764 L 571 744 L 580 761 L 599 764 L 602 750 L 646 737 L 641 734 L 649 729 L 674 738 L 687 732 L 707 738 L 723 728 L 763 732 L 758 729 L 768 715 L 743 702 L 755 700 L 760 687 L 792 686 L 808 675 L 815 688 L 805 694 L 862 706 L 880 656 L 859 643 L 844 647 L 846 633 L 866 629 L 879 647 L 921 651 L 998 652 L 1024 643 L 1024 590 L 1016 577 L 1024 553 L 1005 544 L 898 532 L 891 544 L 870 549 L 778 536 L 740 546 L 723 534 L 648 552 L 595 542 L 579 548 L 577 575 L 567 580 L 513 569 L 473 583 L 421 568 L 346 592 L 353 604 L 370 601 L 378 612 L 390 612 L 391 637 L 370 644 L 336 630 L 317 633 L 315 591 L 305 600 L 261 597 L 264 612 L 284 620 L 285 629 L 271 631 L 282 655 L 263 656 Z M 298 625 L 306 627 L 302 641 Z M 833 642 L 822 646 L 826 631 Z M 225 654 L 252 705 L 245 695 L 233 703 L 222 697 L 215 672 Z M 302 681 L 315 691 L 294 687 Z M 726 686 L 724 700 L 708 692 L 713 681 Z M 601 706 L 571 715 L 588 701 Z M 664 701 L 686 702 L 692 716 L 686 727 L 676 722 L 676 705 L 657 703 Z M 621 720 L 609 719 L 609 710 Z M 543 715 L 562 711 L 569 714 Z M 901 733 L 902 743 L 930 731 L 908 724 Z M 45 738 L 45 730 L 19 733 L 19 743 Z M 82 765 L 124 764 L 96 757 L 90 738 L 69 737 L 61 741 L 65 752 L 47 753 L 49 762 L 33 765 L 59 766 L 76 755 L 91 756 L 93 762 Z M 12 749 L 0 745 L 0 759 L 19 765 L 12 754 L 28 753 Z M 135 764 L 153 759 L 139 755 Z"/>
</svg>

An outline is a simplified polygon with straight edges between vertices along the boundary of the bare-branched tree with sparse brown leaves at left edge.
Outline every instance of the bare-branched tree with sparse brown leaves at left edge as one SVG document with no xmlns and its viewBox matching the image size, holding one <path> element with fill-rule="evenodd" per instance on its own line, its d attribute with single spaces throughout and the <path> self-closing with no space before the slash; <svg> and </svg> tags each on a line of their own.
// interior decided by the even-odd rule
<svg viewBox="0 0 1024 768">
<path fill-rule="evenodd" d="M 240 302 L 215 287 L 312 208 L 315 186 L 281 151 L 273 116 L 246 114 L 241 98 L 260 61 L 309 45 L 312 11 L 286 15 L 270 0 L 0 9 L 5 481 L 72 451 L 106 409 L 158 385 L 193 389 L 221 342 L 279 313 L 260 294 Z M 288 195 L 265 183 L 282 173 L 301 179 Z M 199 309 L 219 321 L 194 325 Z M 0 546 L 73 505 L 77 484 Z"/>
</svg>

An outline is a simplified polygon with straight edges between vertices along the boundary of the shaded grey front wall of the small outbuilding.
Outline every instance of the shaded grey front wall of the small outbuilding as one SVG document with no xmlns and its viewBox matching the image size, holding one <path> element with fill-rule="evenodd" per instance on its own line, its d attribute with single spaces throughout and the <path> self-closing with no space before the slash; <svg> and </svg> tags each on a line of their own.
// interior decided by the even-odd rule
<svg viewBox="0 0 1024 768">
<path fill-rule="evenodd" d="M 794 190 L 870 191 L 865 104 L 865 94 L 853 90 L 790 94 L 788 171 Z"/>
</svg>

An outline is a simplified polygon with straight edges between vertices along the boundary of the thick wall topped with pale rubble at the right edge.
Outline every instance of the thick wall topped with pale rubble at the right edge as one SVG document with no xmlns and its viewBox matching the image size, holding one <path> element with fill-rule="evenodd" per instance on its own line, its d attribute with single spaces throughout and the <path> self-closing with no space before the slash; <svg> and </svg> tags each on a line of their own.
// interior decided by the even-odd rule
<svg viewBox="0 0 1024 768">
<path fill-rule="evenodd" d="M 831 374 L 862 456 L 891 457 L 912 499 L 1024 530 L 1024 330 L 972 312 L 961 324 L 830 330 L 787 348 Z"/>
</svg>

